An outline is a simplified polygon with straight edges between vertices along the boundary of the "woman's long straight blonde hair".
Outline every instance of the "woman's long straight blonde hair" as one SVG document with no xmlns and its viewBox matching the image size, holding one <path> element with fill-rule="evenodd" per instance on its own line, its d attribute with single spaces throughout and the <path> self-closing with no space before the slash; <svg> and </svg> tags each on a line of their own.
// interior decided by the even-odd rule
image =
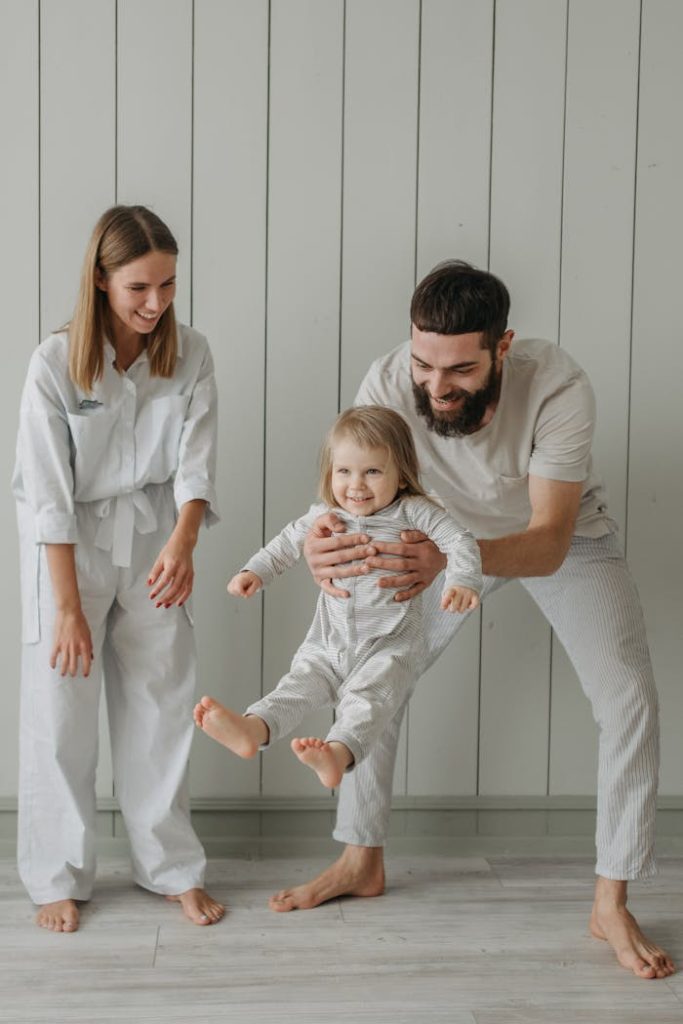
<svg viewBox="0 0 683 1024">
<path fill-rule="evenodd" d="M 69 323 L 69 374 L 83 391 L 91 391 L 104 366 L 104 336 L 111 335 L 106 292 L 96 276 L 108 276 L 150 252 L 178 255 L 178 245 L 164 221 L 144 206 L 113 206 L 93 229 L 83 260 L 81 287 Z M 172 377 L 177 355 L 177 326 L 173 303 L 146 337 L 150 372 Z"/>
</svg>

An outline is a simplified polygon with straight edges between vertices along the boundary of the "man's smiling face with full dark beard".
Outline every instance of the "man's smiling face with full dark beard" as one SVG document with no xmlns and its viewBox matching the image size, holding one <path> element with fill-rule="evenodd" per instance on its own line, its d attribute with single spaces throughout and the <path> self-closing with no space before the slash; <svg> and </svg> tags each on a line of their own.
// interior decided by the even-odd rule
<svg viewBox="0 0 683 1024">
<path fill-rule="evenodd" d="M 433 334 L 413 325 L 413 394 L 429 430 L 442 437 L 461 437 L 488 422 L 498 403 L 503 358 L 511 341 L 512 332 L 506 331 L 493 358 L 481 347 L 480 332 Z"/>
</svg>

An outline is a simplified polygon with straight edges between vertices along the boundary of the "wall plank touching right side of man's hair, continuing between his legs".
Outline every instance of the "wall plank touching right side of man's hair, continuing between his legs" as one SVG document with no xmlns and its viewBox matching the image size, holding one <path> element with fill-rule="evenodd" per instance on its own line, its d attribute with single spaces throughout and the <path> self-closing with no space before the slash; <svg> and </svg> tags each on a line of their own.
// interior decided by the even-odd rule
<svg viewBox="0 0 683 1024">
<path fill-rule="evenodd" d="M 557 339 L 565 0 L 499 0 L 490 268 L 519 337 Z M 547 788 L 550 629 L 518 584 L 482 613 L 479 792 Z"/>
</svg>

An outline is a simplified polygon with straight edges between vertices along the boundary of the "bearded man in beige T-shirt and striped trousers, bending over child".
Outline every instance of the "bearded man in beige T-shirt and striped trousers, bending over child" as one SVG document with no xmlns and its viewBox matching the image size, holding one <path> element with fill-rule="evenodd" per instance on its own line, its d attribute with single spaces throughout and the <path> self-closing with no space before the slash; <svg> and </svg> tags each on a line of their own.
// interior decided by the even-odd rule
<svg viewBox="0 0 683 1024">
<path fill-rule="evenodd" d="M 638 977 L 664 978 L 672 961 L 626 906 L 629 880 L 655 871 L 657 698 L 640 601 L 592 466 L 593 391 L 556 345 L 512 344 L 509 305 L 493 274 L 457 260 L 439 264 L 413 296 L 411 341 L 373 364 L 356 403 L 389 406 L 411 424 L 425 482 L 478 540 L 482 597 L 518 579 L 566 649 L 600 726 L 591 931 Z M 307 559 L 321 586 L 343 600 L 331 580 L 367 571 L 344 565 L 360 558 L 395 567 L 379 586 L 410 600 L 445 562 L 420 535 L 399 545 L 371 540 L 340 534 L 332 516 L 318 520 Z M 437 592 L 425 594 L 426 604 Z M 433 658 L 465 618 L 445 621 L 453 617 L 425 615 Z M 403 711 L 344 779 L 334 833 L 346 844 L 342 856 L 312 882 L 278 893 L 272 909 L 383 891 Z"/>
</svg>

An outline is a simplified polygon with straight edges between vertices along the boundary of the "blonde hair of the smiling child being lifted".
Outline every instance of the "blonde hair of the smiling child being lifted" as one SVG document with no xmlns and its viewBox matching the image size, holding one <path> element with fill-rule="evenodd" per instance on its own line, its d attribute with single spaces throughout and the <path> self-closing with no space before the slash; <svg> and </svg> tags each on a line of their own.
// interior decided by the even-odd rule
<svg viewBox="0 0 683 1024">
<path fill-rule="evenodd" d="M 402 416 L 384 406 L 354 406 L 337 417 L 323 442 L 318 493 L 327 505 L 337 505 L 332 493 L 334 446 L 344 437 L 362 449 L 385 449 L 398 470 L 398 493 L 426 497 L 413 433 Z"/>
</svg>

